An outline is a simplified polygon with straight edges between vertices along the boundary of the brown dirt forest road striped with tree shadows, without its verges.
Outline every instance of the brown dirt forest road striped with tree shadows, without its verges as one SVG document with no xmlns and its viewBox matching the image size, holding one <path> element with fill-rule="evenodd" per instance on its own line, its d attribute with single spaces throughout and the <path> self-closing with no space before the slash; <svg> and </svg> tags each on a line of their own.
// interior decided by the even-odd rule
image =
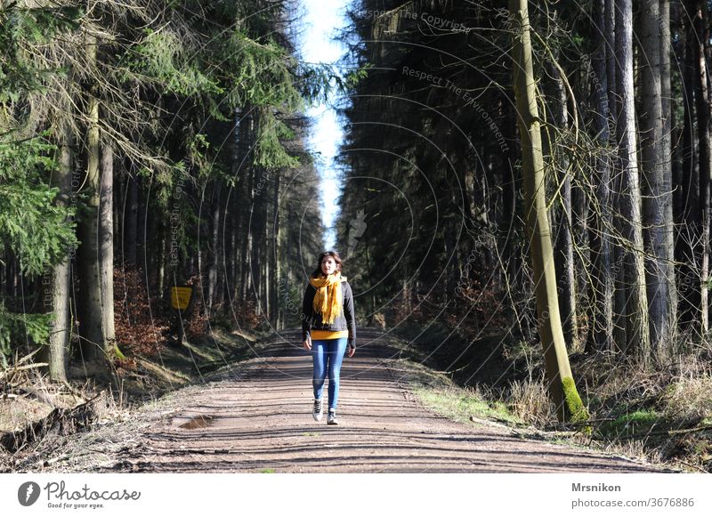
<svg viewBox="0 0 712 517">
<path fill-rule="evenodd" d="M 291 331 L 223 380 L 174 393 L 170 411 L 103 472 L 643 473 L 651 465 L 459 424 L 417 402 L 364 330 L 344 358 L 339 425 L 312 418 L 312 359 Z M 328 383 L 328 381 L 327 381 Z M 325 385 L 325 397 L 327 386 Z M 325 399 L 326 400 L 326 399 Z M 326 404 L 325 404 L 326 406 Z M 114 429 L 120 431 L 119 428 Z M 123 433 L 118 432 L 116 436 Z M 94 442 L 93 449 L 99 444 Z M 100 451 L 101 452 L 101 451 Z M 105 456 L 106 457 L 106 456 Z M 86 468 L 86 466 L 84 467 Z M 659 471 L 658 471 L 659 472 Z"/>
</svg>

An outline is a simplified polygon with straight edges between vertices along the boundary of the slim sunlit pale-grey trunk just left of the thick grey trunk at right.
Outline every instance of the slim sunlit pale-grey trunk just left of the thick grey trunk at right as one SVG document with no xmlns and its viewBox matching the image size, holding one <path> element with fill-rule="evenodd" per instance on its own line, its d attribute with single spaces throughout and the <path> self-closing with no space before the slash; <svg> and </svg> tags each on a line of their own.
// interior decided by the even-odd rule
<svg viewBox="0 0 712 517">
<path fill-rule="evenodd" d="M 616 3 L 616 86 L 620 105 L 617 135 L 621 167 L 621 229 L 627 239 L 623 252 L 627 283 L 626 349 L 638 359 L 650 358 L 648 300 L 645 292 L 641 194 L 635 138 L 635 92 L 633 89 L 633 6 L 631 0 Z"/>
</svg>

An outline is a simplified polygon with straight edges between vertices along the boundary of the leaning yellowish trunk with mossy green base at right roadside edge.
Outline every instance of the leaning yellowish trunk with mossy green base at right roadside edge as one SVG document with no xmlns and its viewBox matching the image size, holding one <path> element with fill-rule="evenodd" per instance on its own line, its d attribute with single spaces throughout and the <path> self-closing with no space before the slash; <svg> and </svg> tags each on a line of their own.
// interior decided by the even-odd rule
<svg viewBox="0 0 712 517">
<path fill-rule="evenodd" d="M 531 57 L 530 23 L 526 0 L 510 0 L 514 27 L 514 96 L 522 140 L 522 174 L 531 238 L 530 254 L 537 298 L 538 330 L 544 346 L 548 389 L 560 421 L 587 419 L 587 410 L 573 382 L 563 339 L 556 293 L 554 249 L 546 214 L 544 157 L 541 149 L 536 82 Z"/>
</svg>

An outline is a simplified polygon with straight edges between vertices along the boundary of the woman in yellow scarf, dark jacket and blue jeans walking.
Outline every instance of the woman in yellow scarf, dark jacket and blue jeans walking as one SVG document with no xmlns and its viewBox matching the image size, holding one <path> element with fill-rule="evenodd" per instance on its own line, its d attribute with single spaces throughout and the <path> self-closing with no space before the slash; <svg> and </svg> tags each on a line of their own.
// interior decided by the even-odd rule
<svg viewBox="0 0 712 517">
<path fill-rule="evenodd" d="M 338 424 L 336 402 L 339 373 L 346 346 L 349 357 L 356 351 L 356 319 L 353 293 L 346 277 L 341 276 L 341 257 L 335 251 L 319 255 L 318 265 L 304 290 L 302 341 L 312 351 L 314 363 L 314 420 L 321 420 L 322 397 L 328 374 L 327 424 Z"/>
</svg>

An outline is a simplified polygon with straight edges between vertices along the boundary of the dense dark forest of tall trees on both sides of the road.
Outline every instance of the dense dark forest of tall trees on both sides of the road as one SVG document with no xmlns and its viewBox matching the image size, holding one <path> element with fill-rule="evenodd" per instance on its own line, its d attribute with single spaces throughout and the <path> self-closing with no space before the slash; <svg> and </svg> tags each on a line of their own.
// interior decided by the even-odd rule
<svg viewBox="0 0 712 517">
<path fill-rule="evenodd" d="M 522 400 L 570 360 L 584 420 L 619 435 L 708 430 L 709 5 L 529 5 L 550 359 L 518 4 L 354 0 L 336 69 L 299 61 L 298 2 L 0 2 L 4 368 L 109 381 L 174 339 L 179 285 L 179 334 L 297 327 L 326 230 L 303 114 L 336 94 L 360 325 Z"/>
</svg>

